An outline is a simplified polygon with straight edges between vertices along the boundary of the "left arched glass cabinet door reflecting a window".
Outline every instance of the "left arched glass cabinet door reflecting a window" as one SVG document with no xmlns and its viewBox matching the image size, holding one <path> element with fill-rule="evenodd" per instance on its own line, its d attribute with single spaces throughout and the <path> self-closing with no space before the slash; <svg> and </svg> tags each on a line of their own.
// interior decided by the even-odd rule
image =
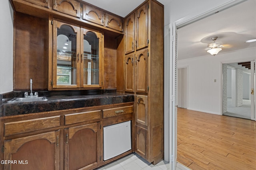
<svg viewBox="0 0 256 170">
<path fill-rule="evenodd" d="M 76 88 L 79 76 L 80 27 L 57 21 L 54 28 L 54 87 Z"/>
</svg>

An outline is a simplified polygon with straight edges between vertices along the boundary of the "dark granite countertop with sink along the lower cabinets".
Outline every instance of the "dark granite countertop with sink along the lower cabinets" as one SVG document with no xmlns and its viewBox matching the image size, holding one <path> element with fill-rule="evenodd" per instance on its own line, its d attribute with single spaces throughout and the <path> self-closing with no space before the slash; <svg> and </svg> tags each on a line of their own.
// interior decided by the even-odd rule
<svg viewBox="0 0 256 170">
<path fill-rule="evenodd" d="M 72 96 L 47 96 L 47 99 L 47 101 L 3 103 L 1 105 L 0 117 L 134 102 L 134 95 L 106 93 Z"/>
</svg>

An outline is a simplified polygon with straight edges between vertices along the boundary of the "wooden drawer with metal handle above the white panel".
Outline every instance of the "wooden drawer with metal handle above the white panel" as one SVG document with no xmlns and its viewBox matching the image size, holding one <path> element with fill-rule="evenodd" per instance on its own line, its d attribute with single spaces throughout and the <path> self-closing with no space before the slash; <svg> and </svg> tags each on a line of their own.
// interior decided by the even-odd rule
<svg viewBox="0 0 256 170">
<path fill-rule="evenodd" d="M 124 106 L 124 107 L 116 107 L 112 109 L 103 109 L 103 118 L 113 117 L 118 115 L 124 115 L 128 113 L 133 113 L 133 106 Z"/>
</svg>

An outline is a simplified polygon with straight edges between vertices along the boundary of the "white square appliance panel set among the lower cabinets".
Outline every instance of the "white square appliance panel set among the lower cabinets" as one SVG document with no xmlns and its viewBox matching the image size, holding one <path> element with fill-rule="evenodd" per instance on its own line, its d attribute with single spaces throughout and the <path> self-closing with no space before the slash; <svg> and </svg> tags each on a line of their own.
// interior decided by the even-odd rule
<svg viewBox="0 0 256 170">
<path fill-rule="evenodd" d="M 103 160 L 131 150 L 131 121 L 103 127 L 103 140 Z"/>
</svg>

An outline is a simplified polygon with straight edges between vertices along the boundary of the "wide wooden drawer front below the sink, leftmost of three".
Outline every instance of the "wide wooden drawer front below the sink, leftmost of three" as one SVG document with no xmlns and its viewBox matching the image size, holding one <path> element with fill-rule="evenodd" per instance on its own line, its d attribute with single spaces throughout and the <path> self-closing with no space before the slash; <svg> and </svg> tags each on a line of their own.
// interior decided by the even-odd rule
<svg viewBox="0 0 256 170">
<path fill-rule="evenodd" d="M 4 136 L 60 126 L 60 116 L 4 123 Z"/>
</svg>

